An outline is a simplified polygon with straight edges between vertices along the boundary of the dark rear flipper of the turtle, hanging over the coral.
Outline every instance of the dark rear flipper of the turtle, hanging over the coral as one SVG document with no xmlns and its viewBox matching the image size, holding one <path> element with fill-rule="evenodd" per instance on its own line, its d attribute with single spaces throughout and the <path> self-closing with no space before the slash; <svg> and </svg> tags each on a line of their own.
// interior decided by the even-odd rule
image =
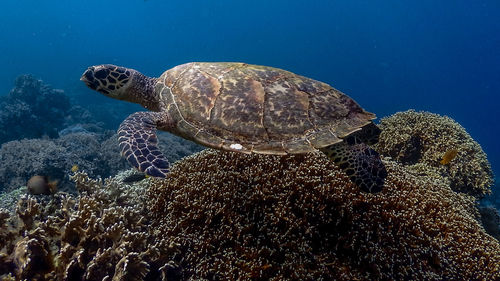
<svg viewBox="0 0 500 281">
<path fill-rule="evenodd" d="M 382 191 L 387 170 L 380 155 L 359 138 L 349 136 L 343 142 L 320 149 L 349 176 L 361 190 Z"/>
</svg>

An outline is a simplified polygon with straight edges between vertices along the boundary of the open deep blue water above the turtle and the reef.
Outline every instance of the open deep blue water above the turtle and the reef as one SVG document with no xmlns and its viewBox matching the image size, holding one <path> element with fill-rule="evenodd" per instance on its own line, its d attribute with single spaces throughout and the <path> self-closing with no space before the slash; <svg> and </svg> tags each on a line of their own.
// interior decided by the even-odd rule
<svg viewBox="0 0 500 281">
<path fill-rule="evenodd" d="M 101 63 L 151 76 L 189 61 L 264 64 L 327 82 L 379 117 L 448 115 L 499 174 L 499 19 L 498 0 L 2 0 L 0 94 L 24 73 L 86 91 L 80 74 Z"/>
</svg>

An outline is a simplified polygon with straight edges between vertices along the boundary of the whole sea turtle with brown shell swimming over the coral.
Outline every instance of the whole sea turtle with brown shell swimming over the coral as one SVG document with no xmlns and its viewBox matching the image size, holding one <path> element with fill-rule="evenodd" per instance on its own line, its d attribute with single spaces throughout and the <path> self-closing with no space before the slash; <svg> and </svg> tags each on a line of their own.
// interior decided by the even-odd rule
<svg viewBox="0 0 500 281">
<path fill-rule="evenodd" d="M 382 190 L 387 176 L 378 153 L 367 145 L 380 133 L 375 115 L 325 83 L 282 69 L 191 62 L 150 78 L 104 64 L 89 67 L 81 80 L 108 97 L 151 110 L 127 117 L 118 138 L 128 162 L 153 177 L 165 177 L 169 168 L 156 129 L 228 151 L 320 150 L 367 192 Z"/>
</svg>

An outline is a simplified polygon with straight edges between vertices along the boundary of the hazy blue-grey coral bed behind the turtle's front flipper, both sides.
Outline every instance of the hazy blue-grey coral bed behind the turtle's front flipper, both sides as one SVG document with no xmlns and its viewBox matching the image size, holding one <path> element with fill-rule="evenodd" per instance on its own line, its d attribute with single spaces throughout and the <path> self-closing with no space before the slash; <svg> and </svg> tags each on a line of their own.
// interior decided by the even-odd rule
<svg viewBox="0 0 500 281">
<path fill-rule="evenodd" d="M 83 129 L 83 128 L 82 128 Z M 201 147 L 170 134 L 159 135 L 160 147 L 172 163 Z M 58 181 L 59 189 L 73 189 L 67 174 L 77 165 L 91 177 L 109 177 L 130 168 L 120 156 L 117 135 L 87 130 L 68 132 L 57 139 L 11 141 L 0 148 L 0 191 L 26 185 L 33 175 Z"/>
</svg>

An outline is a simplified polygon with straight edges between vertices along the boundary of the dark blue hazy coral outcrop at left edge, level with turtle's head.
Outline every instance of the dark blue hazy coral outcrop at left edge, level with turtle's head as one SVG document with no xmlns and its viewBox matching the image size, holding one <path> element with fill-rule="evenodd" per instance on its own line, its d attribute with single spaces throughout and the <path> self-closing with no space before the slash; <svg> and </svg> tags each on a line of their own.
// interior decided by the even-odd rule
<svg viewBox="0 0 500 281">
<path fill-rule="evenodd" d="M 69 98 L 31 75 L 19 76 L 0 103 L 0 143 L 43 135 L 56 137 L 70 110 Z"/>
</svg>

